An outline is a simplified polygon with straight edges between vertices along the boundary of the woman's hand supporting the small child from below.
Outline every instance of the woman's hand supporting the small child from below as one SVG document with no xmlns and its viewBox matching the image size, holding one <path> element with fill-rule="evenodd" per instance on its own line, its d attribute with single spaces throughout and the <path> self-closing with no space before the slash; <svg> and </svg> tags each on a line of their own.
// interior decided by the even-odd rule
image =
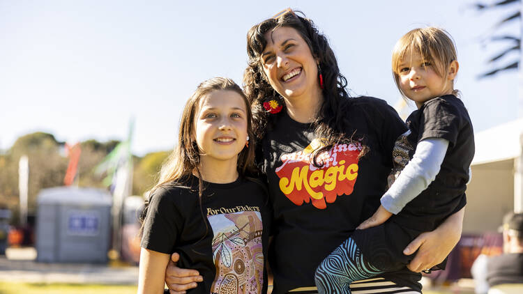
<svg viewBox="0 0 523 294">
<path fill-rule="evenodd" d="M 413 272 L 421 272 L 444 261 L 461 238 L 464 214 L 465 208 L 462 208 L 447 217 L 434 231 L 422 233 L 410 242 L 403 254 L 411 255 L 416 250 L 418 252 L 407 268 Z"/>
</svg>

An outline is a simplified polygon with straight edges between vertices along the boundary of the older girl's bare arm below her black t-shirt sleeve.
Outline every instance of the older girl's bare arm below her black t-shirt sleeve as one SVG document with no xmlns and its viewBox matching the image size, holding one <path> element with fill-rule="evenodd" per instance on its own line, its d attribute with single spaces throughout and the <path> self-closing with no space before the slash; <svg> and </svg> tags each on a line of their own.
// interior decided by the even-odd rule
<svg viewBox="0 0 523 294">
<path fill-rule="evenodd" d="M 138 277 L 138 294 L 163 293 L 165 268 L 169 254 L 142 248 Z"/>
</svg>

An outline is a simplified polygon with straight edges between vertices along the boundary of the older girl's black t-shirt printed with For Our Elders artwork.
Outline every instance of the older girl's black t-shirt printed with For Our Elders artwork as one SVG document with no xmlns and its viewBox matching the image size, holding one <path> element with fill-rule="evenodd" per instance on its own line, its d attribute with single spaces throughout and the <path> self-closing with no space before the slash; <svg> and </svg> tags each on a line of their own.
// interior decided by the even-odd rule
<svg viewBox="0 0 523 294">
<path fill-rule="evenodd" d="M 178 252 L 181 268 L 198 270 L 204 281 L 188 293 L 266 293 L 264 261 L 271 221 L 266 189 L 241 178 L 229 184 L 204 182 L 204 187 L 202 206 L 195 177 L 187 187 L 156 189 L 142 247 Z"/>
</svg>

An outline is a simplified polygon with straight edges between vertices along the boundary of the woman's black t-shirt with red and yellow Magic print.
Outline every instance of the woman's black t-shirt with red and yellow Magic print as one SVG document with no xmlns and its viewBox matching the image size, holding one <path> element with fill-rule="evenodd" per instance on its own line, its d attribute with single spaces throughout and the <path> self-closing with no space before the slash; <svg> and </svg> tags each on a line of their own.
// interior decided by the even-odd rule
<svg viewBox="0 0 523 294">
<path fill-rule="evenodd" d="M 356 131 L 370 151 L 358 159 L 361 144 L 340 144 L 310 164 L 319 146 L 308 123 L 280 114 L 262 141 L 262 169 L 273 205 L 273 242 L 269 261 L 273 293 L 314 286 L 319 263 L 374 213 L 385 192 L 396 138 L 407 128 L 396 111 L 376 98 L 353 98 L 346 113 L 348 137 Z M 420 274 L 405 269 L 382 275 L 402 286 L 420 290 Z"/>
</svg>

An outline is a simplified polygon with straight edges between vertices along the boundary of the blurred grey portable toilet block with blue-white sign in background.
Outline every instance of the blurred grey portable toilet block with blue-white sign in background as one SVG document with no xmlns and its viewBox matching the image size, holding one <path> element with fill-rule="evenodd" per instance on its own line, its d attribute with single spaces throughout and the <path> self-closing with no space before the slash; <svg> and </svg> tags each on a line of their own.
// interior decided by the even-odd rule
<svg viewBox="0 0 523 294">
<path fill-rule="evenodd" d="M 102 189 L 54 187 L 37 199 L 40 262 L 107 262 L 112 197 Z"/>
</svg>

